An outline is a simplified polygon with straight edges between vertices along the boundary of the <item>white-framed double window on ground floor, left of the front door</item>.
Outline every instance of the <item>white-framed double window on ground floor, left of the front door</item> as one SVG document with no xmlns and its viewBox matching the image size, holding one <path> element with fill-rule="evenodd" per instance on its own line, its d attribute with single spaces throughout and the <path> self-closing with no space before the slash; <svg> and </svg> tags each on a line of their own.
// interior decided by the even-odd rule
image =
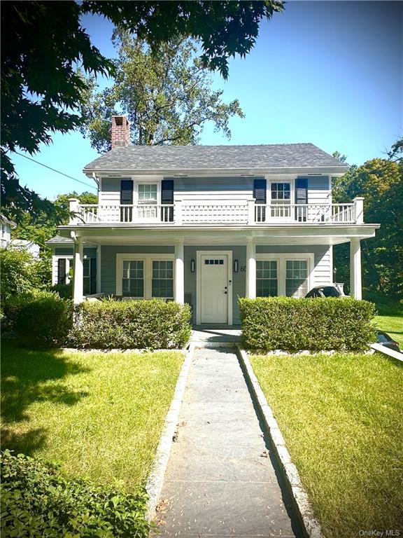
<svg viewBox="0 0 403 538">
<path fill-rule="evenodd" d="M 117 254 L 116 294 L 132 298 L 174 298 L 173 254 Z"/>
</svg>

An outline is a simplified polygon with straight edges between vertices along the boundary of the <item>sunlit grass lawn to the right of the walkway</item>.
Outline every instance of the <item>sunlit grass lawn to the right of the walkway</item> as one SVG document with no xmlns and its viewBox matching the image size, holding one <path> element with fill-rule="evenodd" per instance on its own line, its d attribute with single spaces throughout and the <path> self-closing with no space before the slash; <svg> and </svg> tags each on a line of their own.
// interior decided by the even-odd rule
<svg viewBox="0 0 403 538">
<path fill-rule="evenodd" d="M 402 535 L 403 365 L 379 354 L 251 362 L 325 536 Z"/>
</svg>

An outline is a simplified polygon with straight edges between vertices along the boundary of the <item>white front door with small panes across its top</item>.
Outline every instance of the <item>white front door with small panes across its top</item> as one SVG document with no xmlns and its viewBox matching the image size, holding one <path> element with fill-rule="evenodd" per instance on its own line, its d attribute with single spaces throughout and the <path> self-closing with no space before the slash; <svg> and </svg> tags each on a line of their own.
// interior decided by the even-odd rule
<svg viewBox="0 0 403 538">
<path fill-rule="evenodd" d="M 200 256 L 201 323 L 228 322 L 228 255 L 201 254 Z"/>
</svg>

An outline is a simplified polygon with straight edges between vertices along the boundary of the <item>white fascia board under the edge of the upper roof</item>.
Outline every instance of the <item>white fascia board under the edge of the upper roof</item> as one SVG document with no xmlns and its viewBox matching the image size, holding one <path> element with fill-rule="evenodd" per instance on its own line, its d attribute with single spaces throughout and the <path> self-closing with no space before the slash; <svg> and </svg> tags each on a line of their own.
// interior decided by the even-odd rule
<svg viewBox="0 0 403 538">
<path fill-rule="evenodd" d="M 211 176 L 264 176 L 270 174 L 296 174 L 296 175 L 309 175 L 320 174 L 332 176 L 342 176 L 348 171 L 347 166 L 337 167 L 269 167 L 269 168 L 186 168 L 186 169 L 141 169 L 141 168 L 125 168 L 125 169 L 113 169 L 113 170 L 91 170 L 84 169 L 84 174 L 87 177 L 92 177 L 93 173 L 98 176 L 113 177 L 125 177 L 125 176 L 137 176 L 137 175 L 157 175 L 164 177 L 211 177 Z"/>
</svg>

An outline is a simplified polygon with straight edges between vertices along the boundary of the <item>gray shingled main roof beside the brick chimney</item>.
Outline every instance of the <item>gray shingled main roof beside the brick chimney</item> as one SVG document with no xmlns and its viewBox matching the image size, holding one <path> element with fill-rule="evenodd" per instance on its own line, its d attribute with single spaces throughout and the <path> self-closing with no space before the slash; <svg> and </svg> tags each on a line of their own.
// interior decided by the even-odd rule
<svg viewBox="0 0 403 538">
<path fill-rule="evenodd" d="M 271 144 L 260 146 L 117 147 L 87 164 L 84 172 L 97 170 L 235 170 L 285 167 L 341 167 L 346 170 L 346 165 L 313 144 Z"/>
</svg>

